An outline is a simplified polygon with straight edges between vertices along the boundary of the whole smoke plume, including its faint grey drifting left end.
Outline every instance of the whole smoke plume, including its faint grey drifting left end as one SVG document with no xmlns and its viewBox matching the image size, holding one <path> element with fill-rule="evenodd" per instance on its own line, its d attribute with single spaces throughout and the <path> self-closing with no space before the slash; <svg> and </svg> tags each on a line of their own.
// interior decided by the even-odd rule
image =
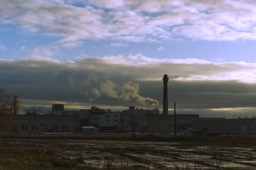
<svg viewBox="0 0 256 170">
<path fill-rule="evenodd" d="M 102 94 L 110 98 L 115 98 L 123 101 L 136 100 L 137 103 L 143 105 L 157 106 L 158 102 L 155 99 L 143 97 L 139 94 L 139 84 L 135 82 L 126 82 L 124 86 L 119 86 L 111 80 L 107 80 L 99 87 L 99 79 L 95 74 L 90 73 L 83 79 L 84 75 L 75 74 L 67 78 L 71 88 L 86 96 L 89 102 L 93 102 L 95 98 L 100 98 Z"/>
</svg>

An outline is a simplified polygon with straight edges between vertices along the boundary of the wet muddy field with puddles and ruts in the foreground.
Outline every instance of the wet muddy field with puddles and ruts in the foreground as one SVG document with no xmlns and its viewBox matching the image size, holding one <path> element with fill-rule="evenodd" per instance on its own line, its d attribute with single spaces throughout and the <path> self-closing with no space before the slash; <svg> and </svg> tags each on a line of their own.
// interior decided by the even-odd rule
<svg viewBox="0 0 256 170">
<path fill-rule="evenodd" d="M 255 147 L 218 147 L 213 144 L 122 142 L 95 140 L 1 139 L 0 149 L 54 150 L 63 159 L 103 167 L 106 163 L 150 169 L 256 168 Z M 196 167 L 196 168 L 195 168 Z"/>
</svg>

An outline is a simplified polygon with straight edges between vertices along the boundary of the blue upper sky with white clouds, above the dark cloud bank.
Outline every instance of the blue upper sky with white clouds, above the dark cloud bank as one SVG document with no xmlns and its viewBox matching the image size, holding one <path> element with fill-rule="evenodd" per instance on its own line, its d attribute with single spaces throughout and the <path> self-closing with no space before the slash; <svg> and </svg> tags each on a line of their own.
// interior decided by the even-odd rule
<svg viewBox="0 0 256 170">
<path fill-rule="evenodd" d="M 256 21 L 255 18 L 252 19 L 250 16 L 256 12 L 253 8 L 255 4 L 229 0 L 223 0 L 221 3 L 200 3 L 197 0 L 187 0 L 187 5 L 182 4 L 182 1 L 172 3 L 171 1 L 161 2 L 157 0 L 142 0 L 140 3 L 135 3 L 135 5 L 133 4 L 136 1 L 133 2 L 133 0 L 33 0 L 33 2 L 34 4 L 26 6 L 28 1 L 25 0 L 15 0 L 13 2 L 12 0 L 4 0 L 0 5 L 2 14 L 0 37 L 2 59 L 31 57 L 35 49 L 44 47 L 52 52 L 52 55 L 48 57 L 62 62 L 84 55 L 104 57 L 135 54 L 159 59 L 198 58 L 213 62 L 256 62 L 256 33 L 254 33 Z M 14 5 L 10 7 L 8 6 L 9 3 Z M 233 14 L 238 12 L 238 9 L 236 9 L 238 3 L 241 6 L 240 14 L 243 14 L 243 10 L 246 9 L 251 12 L 249 14 L 244 12 L 244 17 L 241 17 L 240 20 L 233 17 Z M 210 10 L 212 6 L 215 7 L 216 11 L 210 13 L 207 9 Z M 13 12 L 9 12 L 15 7 L 17 8 Z M 43 7 L 46 10 L 42 9 Z M 222 11 L 221 9 L 225 9 L 225 7 L 230 9 Z M 35 8 L 38 8 L 38 14 Z M 79 8 L 79 10 L 76 8 Z M 69 20 L 71 21 L 71 19 L 65 20 L 65 17 L 70 15 L 69 12 L 72 14 L 72 11 L 74 11 L 72 15 L 87 17 L 89 13 L 84 13 L 84 8 L 90 9 L 89 13 L 95 19 L 90 20 L 90 18 L 82 17 L 79 20 L 85 21 L 86 24 L 77 21 L 71 26 L 65 25 Z M 67 12 L 55 14 L 55 10 L 67 10 Z M 93 12 L 93 10 L 98 11 Z M 48 14 L 45 14 L 46 11 Z M 190 13 L 183 16 L 182 12 L 186 11 Z M 105 14 L 98 14 L 100 12 L 105 12 Z M 209 16 L 202 16 L 202 14 L 208 14 Z M 221 14 L 225 14 L 225 19 L 216 19 Z M 63 18 L 61 18 L 61 15 L 63 15 Z M 193 15 L 193 17 L 190 15 Z M 50 19 L 47 20 L 47 17 Z M 160 20 L 161 17 L 165 19 Z M 212 21 L 208 21 L 209 19 L 212 19 Z M 122 30 L 122 26 L 119 26 L 119 30 L 116 30 L 116 28 L 106 29 L 108 31 L 106 34 L 109 34 L 107 36 L 100 35 L 104 26 L 96 20 L 108 23 L 108 27 L 113 27 L 115 23 L 128 23 L 131 26 L 136 25 L 137 29 L 130 27 L 131 31 Z M 41 23 L 41 21 L 43 22 Z M 87 26 L 90 21 L 92 25 L 97 23 L 102 28 L 98 28 L 99 31 L 91 35 L 86 32 L 81 33 L 81 31 L 84 31 L 83 29 L 90 28 Z M 84 24 L 84 27 L 76 28 L 79 24 Z M 50 28 L 51 26 L 55 26 L 55 28 Z M 62 29 L 63 26 L 67 27 L 66 30 L 63 30 L 65 28 Z M 191 32 L 195 28 L 198 28 L 199 32 Z M 141 30 L 133 34 L 138 29 Z M 152 30 L 147 31 L 147 29 Z M 162 31 L 161 34 L 157 34 L 159 29 Z M 177 34 L 177 31 L 180 32 Z M 209 31 L 212 31 L 212 33 L 209 33 Z M 111 35 L 111 32 L 115 34 Z M 76 37 L 76 40 L 72 41 L 72 47 L 68 47 L 69 45 L 63 47 L 56 43 L 58 40 L 70 36 Z M 126 36 L 132 37 L 132 40 Z M 146 38 L 149 40 L 145 40 Z M 55 45 L 51 43 L 55 43 Z M 111 44 L 116 46 L 111 46 Z"/>
</svg>

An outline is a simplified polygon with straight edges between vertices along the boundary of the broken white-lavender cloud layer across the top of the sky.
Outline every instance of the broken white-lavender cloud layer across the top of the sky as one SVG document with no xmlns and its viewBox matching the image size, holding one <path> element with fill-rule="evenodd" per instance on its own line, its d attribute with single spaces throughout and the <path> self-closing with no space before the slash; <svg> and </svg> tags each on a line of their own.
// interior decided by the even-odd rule
<svg viewBox="0 0 256 170">
<path fill-rule="evenodd" d="M 73 2 L 84 6 L 72 6 Z M 2 0 L 0 9 L 3 24 L 76 41 L 256 40 L 253 0 Z"/>
</svg>

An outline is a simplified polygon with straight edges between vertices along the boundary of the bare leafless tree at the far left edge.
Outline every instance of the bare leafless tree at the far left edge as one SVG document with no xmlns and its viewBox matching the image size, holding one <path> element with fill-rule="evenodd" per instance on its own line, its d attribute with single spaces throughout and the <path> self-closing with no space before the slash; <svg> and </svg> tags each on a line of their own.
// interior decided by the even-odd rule
<svg viewBox="0 0 256 170">
<path fill-rule="evenodd" d="M 11 114 L 14 96 L 6 94 L 3 88 L 0 88 L 0 116 L 4 113 Z"/>
</svg>

